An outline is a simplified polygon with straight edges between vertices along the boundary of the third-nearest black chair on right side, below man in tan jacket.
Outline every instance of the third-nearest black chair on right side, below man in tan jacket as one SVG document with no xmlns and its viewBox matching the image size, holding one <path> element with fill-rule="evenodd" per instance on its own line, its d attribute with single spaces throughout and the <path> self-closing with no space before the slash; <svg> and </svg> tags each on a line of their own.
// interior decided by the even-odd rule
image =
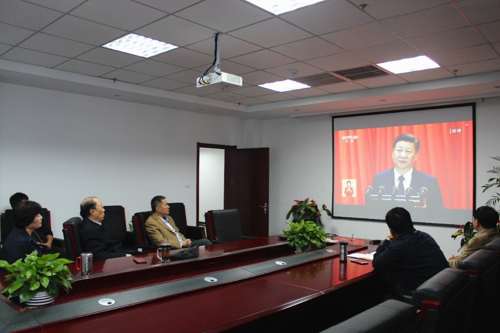
<svg viewBox="0 0 500 333">
<path fill-rule="evenodd" d="M 489 325 L 493 322 L 490 312 L 498 272 L 498 255 L 493 251 L 478 250 L 465 258 L 458 265 L 458 269 L 470 275 L 472 285 L 469 299 L 472 311 L 467 313 L 467 331 L 494 332 L 494 328 Z"/>
</svg>

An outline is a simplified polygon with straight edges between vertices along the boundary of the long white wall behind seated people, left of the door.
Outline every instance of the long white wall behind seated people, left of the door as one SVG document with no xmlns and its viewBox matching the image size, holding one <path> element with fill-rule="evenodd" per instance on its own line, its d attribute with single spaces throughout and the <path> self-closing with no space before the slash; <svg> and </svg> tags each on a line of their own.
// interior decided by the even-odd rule
<svg viewBox="0 0 500 333">
<path fill-rule="evenodd" d="M 0 83 L 0 211 L 26 193 L 62 237 L 85 197 L 130 219 L 164 195 L 194 225 L 196 142 L 241 146 L 242 132 L 238 119 Z"/>
</svg>

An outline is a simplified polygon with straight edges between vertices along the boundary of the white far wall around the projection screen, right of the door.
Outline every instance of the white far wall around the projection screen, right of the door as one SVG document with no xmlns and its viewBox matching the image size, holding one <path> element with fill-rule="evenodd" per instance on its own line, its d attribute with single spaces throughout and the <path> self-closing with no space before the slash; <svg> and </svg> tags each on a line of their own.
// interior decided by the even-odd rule
<svg viewBox="0 0 500 333">
<path fill-rule="evenodd" d="M 481 193 L 493 165 L 487 156 L 500 155 L 500 100 L 486 99 L 476 105 L 476 206 L 483 205 L 493 192 Z M 286 227 L 285 216 L 294 199 L 313 198 L 331 208 L 332 139 L 331 118 L 311 116 L 266 120 L 263 146 L 269 147 L 269 234 Z M 493 190 L 490 190 L 493 191 Z M 472 216 L 472 212 L 471 212 Z M 322 217 L 326 232 L 367 239 L 383 239 L 385 223 L 332 220 Z M 431 222 L 431 221 L 429 221 Z M 456 221 L 463 224 L 466 221 Z M 446 256 L 456 254 L 459 241 L 450 235 L 450 227 L 416 226 L 434 237 Z"/>
</svg>

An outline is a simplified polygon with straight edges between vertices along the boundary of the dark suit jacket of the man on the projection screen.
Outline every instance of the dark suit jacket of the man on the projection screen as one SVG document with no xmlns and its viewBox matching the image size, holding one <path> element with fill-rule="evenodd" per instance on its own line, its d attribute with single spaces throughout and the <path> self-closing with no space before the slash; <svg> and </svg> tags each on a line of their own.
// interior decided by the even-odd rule
<svg viewBox="0 0 500 333">
<path fill-rule="evenodd" d="M 377 191 L 380 185 L 385 188 L 384 194 L 390 194 L 392 187 L 397 187 L 398 184 L 394 184 L 394 168 L 377 173 L 373 177 L 373 181 L 371 182 L 373 191 Z M 427 195 L 425 199 L 427 207 L 444 208 L 441 189 L 439 188 L 435 177 L 413 168 L 411 173 L 411 183 L 409 186 L 413 189 L 412 195 L 417 195 L 418 191 L 420 191 L 422 187 L 427 188 Z"/>
</svg>

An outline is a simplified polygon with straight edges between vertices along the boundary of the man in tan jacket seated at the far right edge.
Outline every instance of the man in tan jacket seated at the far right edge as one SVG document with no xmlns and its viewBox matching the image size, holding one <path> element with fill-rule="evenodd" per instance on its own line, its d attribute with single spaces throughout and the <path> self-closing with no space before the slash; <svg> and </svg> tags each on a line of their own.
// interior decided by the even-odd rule
<svg viewBox="0 0 500 333">
<path fill-rule="evenodd" d="M 459 256 L 451 256 L 448 263 L 451 268 L 458 268 L 458 265 L 477 250 L 481 250 L 486 244 L 497 238 L 498 230 L 498 212 L 489 206 L 477 208 L 472 217 L 472 227 L 477 234 L 472 237 L 467 244 L 463 246 L 462 253 Z"/>
</svg>

